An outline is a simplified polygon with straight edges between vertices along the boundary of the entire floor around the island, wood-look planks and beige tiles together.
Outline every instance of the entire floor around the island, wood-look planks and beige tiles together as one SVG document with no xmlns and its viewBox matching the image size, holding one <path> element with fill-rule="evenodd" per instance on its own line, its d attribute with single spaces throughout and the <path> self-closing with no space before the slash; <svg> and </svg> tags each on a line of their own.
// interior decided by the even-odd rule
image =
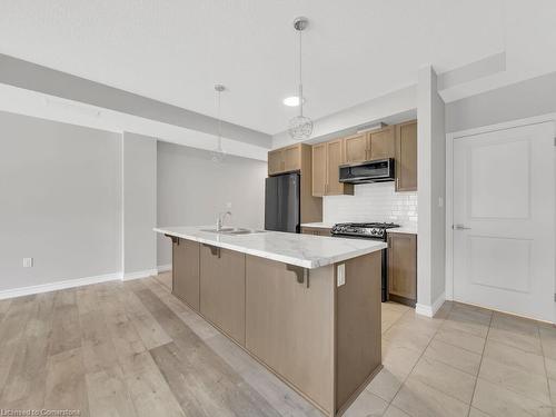
<svg viewBox="0 0 556 417">
<path fill-rule="evenodd" d="M 0 408 L 320 416 L 170 294 L 169 274 L 0 301 Z M 383 305 L 384 369 L 348 417 L 555 416 L 556 329 L 447 302 Z"/>
</svg>

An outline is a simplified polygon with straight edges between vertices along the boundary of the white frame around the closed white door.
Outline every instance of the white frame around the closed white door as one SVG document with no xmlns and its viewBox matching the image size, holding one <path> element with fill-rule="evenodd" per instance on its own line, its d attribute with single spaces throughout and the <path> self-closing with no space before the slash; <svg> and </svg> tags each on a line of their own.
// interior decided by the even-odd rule
<svg viewBox="0 0 556 417">
<path fill-rule="evenodd" d="M 540 125 L 553 122 L 556 133 L 556 113 L 547 113 L 542 116 L 517 119 L 502 123 L 481 126 L 467 130 L 446 133 L 446 300 L 454 300 L 454 140 L 489 133 L 498 130 L 506 130 L 530 125 Z M 556 156 L 556 138 L 555 138 L 555 156 Z M 556 232 L 556 230 L 555 230 Z M 556 296 L 556 295 L 555 295 Z"/>
</svg>

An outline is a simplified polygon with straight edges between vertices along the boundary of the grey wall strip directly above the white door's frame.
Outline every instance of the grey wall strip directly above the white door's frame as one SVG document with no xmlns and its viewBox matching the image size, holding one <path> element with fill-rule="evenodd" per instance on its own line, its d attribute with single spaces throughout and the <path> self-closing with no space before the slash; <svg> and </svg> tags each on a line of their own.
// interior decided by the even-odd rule
<svg viewBox="0 0 556 417">
<path fill-rule="evenodd" d="M 446 105 L 446 131 L 556 112 L 556 72 Z"/>
</svg>

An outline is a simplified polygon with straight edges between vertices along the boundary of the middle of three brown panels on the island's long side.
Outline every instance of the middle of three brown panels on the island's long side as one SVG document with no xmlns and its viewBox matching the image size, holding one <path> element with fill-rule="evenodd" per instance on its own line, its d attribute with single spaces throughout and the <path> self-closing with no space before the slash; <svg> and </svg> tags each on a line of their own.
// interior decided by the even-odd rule
<svg viewBox="0 0 556 417">
<path fill-rule="evenodd" d="M 200 311 L 245 345 L 245 255 L 201 245 Z"/>
</svg>

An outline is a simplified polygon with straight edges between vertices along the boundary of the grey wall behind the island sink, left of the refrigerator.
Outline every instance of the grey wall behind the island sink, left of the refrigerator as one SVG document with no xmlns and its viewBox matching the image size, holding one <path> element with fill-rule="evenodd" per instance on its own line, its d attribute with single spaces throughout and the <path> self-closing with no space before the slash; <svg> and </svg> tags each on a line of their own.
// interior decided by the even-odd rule
<svg viewBox="0 0 556 417">
<path fill-rule="evenodd" d="M 158 226 L 214 225 L 231 202 L 234 225 L 264 227 L 266 162 L 227 156 L 215 163 L 208 151 L 159 141 L 157 167 Z M 169 264 L 170 240 L 159 236 L 158 265 Z"/>
</svg>

